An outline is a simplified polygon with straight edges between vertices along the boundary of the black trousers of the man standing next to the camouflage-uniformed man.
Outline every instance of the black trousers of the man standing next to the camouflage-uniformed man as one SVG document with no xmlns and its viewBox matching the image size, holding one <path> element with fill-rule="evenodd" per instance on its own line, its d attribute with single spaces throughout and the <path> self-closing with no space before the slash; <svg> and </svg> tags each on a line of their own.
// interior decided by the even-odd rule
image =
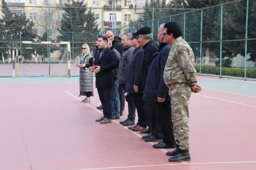
<svg viewBox="0 0 256 170">
<path fill-rule="evenodd" d="M 155 102 L 155 108 L 160 130 L 163 133 L 163 142 L 165 144 L 175 145 L 175 139 L 173 135 L 171 102 Z"/>
</svg>

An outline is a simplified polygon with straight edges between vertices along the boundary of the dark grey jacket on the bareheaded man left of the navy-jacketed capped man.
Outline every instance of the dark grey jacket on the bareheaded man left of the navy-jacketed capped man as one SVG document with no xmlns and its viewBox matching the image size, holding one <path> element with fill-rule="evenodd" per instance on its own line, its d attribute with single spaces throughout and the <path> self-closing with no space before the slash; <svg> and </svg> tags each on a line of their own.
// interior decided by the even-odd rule
<svg viewBox="0 0 256 170">
<path fill-rule="evenodd" d="M 126 71 L 134 49 L 134 47 L 128 46 L 122 53 L 117 74 L 117 80 L 119 84 L 126 84 Z"/>
</svg>

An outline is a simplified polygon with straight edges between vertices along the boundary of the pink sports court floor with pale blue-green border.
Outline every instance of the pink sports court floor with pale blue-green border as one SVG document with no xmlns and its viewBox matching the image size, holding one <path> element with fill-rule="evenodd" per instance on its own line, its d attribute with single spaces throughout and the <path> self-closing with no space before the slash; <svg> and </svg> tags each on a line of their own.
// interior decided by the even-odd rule
<svg viewBox="0 0 256 170">
<path fill-rule="evenodd" d="M 191 161 L 171 163 L 142 134 L 100 125 L 96 88 L 79 78 L 0 78 L 0 170 L 256 170 L 256 82 L 199 77 L 190 98 Z"/>
</svg>

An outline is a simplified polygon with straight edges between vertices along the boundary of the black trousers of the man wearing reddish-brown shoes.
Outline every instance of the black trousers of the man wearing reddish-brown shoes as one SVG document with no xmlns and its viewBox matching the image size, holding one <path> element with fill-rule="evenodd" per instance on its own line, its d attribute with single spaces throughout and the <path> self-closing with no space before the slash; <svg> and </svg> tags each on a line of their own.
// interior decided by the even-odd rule
<svg viewBox="0 0 256 170">
<path fill-rule="evenodd" d="M 145 106 L 144 106 L 144 101 L 142 100 L 143 93 L 131 93 L 131 96 L 134 99 L 134 105 L 138 113 L 137 125 L 140 125 L 141 127 L 147 127 Z"/>
</svg>

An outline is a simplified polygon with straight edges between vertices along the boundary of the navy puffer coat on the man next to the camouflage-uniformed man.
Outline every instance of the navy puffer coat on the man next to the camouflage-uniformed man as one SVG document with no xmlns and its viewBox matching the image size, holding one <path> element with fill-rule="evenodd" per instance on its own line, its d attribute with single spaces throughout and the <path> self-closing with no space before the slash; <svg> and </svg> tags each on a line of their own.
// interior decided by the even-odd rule
<svg viewBox="0 0 256 170">
<path fill-rule="evenodd" d="M 169 89 L 163 81 L 163 71 L 169 56 L 171 45 L 162 43 L 159 48 L 160 52 L 157 51 L 153 55 L 153 59 L 148 68 L 143 100 L 157 101 L 157 97 L 170 100 L 170 96 L 168 94 Z"/>
</svg>

